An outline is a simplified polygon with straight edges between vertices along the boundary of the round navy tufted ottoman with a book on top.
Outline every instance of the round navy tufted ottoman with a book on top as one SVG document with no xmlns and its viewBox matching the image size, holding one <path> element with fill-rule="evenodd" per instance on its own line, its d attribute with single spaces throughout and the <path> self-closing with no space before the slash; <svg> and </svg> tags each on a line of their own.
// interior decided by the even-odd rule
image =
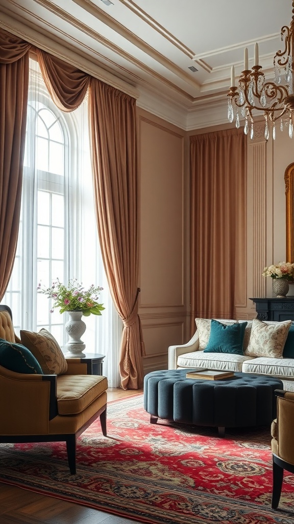
<svg viewBox="0 0 294 524">
<path fill-rule="evenodd" d="M 192 369 L 191 369 L 192 370 Z M 190 369 L 189 369 L 190 371 Z M 282 381 L 235 373 L 223 380 L 186 378 L 187 369 L 153 371 L 144 377 L 144 409 L 158 418 L 224 429 L 269 425 L 276 418 L 275 389 Z"/>
</svg>

